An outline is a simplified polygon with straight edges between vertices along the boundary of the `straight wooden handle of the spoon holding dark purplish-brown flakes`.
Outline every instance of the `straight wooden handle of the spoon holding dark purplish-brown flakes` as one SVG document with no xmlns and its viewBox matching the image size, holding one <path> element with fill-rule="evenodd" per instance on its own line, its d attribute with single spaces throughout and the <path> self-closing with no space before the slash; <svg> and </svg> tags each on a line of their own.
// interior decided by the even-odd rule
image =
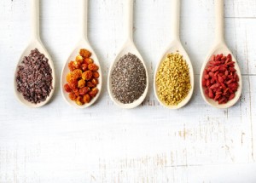
<svg viewBox="0 0 256 183">
<path fill-rule="evenodd" d="M 39 0 L 31 0 L 32 4 L 32 39 L 40 39 Z"/>
</svg>

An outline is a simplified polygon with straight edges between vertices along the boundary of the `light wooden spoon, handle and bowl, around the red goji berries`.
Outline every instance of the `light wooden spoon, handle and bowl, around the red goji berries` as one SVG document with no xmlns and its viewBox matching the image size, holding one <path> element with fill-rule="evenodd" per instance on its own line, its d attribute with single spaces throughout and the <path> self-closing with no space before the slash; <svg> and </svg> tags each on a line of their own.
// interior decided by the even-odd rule
<svg viewBox="0 0 256 183">
<path fill-rule="evenodd" d="M 209 104 L 210 106 L 218 107 L 218 108 L 228 108 L 230 106 L 233 106 L 236 104 L 236 101 L 239 100 L 240 95 L 241 95 L 241 71 L 239 69 L 239 66 L 237 64 L 236 58 L 233 56 L 231 53 L 230 49 L 228 49 L 226 43 L 224 42 L 224 0 L 215 0 L 215 16 L 216 16 L 216 31 L 215 31 L 215 43 L 213 44 L 214 46 L 212 47 L 211 51 L 209 54 L 207 54 L 207 58 L 201 67 L 201 75 L 200 75 L 200 88 L 201 88 L 201 95 L 202 98 Z M 235 61 L 235 69 L 237 76 L 239 77 L 239 87 L 236 91 L 236 96 L 233 100 L 228 101 L 226 104 L 218 104 L 218 101 L 210 99 L 206 94 L 205 94 L 205 88 L 202 86 L 202 77 L 203 77 L 203 72 L 208 66 L 208 62 L 210 58 L 212 57 L 212 54 L 224 54 L 232 55 L 232 61 Z"/>
</svg>

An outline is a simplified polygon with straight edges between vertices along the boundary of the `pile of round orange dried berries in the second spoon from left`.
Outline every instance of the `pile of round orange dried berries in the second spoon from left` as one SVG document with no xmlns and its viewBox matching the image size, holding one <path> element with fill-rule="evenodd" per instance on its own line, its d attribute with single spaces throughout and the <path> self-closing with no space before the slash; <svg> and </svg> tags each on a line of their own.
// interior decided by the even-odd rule
<svg viewBox="0 0 256 183">
<path fill-rule="evenodd" d="M 98 93 L 96 85 L 99 83 L 100 75 L 97 71 L 99 67 L 94 64 L 90 56 L 90 51 L 80 49 L 76 60 L 68 64 L 70 72 L 67 74 L 64 89 L 69 93 L 70 100 L 75 101 L 79 106 L 90 103 Z"/>
</svg>

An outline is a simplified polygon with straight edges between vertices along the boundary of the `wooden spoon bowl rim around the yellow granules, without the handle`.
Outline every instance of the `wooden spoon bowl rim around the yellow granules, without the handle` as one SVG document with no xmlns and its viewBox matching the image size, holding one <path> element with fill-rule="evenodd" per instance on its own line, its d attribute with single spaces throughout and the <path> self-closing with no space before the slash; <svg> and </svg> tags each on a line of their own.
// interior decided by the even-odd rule
<svg viewBox="0 0 256 183">
<path fill-rule="evenodd" d="M 183 59 L 186 60 L 186 63 L 189 66 L 189 77 L 190 77 L 191 89 L 189 90 L 189 94 L 187 94 L 187 96 L 180 103 L 178 103 L 177 106 L 166 105 L 165 102 L 160 100 L 160 97 L 157 93 L 158 87 L 156 84 L 156 74 L 159 71 L 162 62 L 166 59 L 167 55 L 171 54 L 171 53 L 173 53 L 173 54 L 178 53 L 180 55 L 183 55 Z M 191 97 L 193 95 L 193 91 L 194 91 L 194 71 L 193 71 L 193 66 L 191 64 L 191 61 L 189 59 L 189 55 L 186 53 L 185 49 L 183 49 L 183 46 L 180 43 L 180 41 L 174 41 L 171 43 L 171 45 L 168 47 L 168 49 L 166 49 L 165 54 L 163 54 L 163 56 L 161 57 L 160 62 L 158 63 L 158 65 L 156 66 L 156 69 L 154 71 L 154 95 L 156 96 L 156 99 L 160 102 L 160 104 L 162 106 L 165 106 L 169 109 L 179 109 L 179 108 L 185 106 L 189 102 L 189 100 L 191 99 Z"/>
</svg>

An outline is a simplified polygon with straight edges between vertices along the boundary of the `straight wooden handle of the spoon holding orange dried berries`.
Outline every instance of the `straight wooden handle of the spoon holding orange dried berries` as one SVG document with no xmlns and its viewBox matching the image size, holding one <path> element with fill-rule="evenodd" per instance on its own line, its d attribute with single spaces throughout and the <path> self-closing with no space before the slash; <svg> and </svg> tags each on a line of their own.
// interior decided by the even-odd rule
<svg viewBox="0 0 256 183">
<path fill-rule="evenodd" d="M 81 37 L 87 40 L 88 0 L 81 0 Z"/>
</svg>

